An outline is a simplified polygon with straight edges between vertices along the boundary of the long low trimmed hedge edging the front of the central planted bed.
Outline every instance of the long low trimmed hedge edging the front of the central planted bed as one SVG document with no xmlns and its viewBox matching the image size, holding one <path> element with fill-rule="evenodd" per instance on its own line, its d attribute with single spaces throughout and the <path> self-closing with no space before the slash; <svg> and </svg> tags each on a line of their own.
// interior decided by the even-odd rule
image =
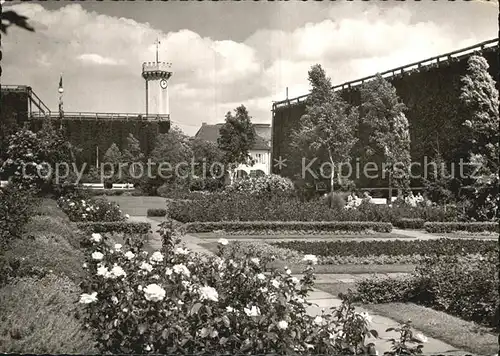
<svg viewBox="0 0 500 356">
<path fill-rule="evenodd" d="M 305 230 L 305 231 L 350 231 L 391 232 L 392 224 L 371 221 L 217 221 L 192 222 L 186 224 L 187 232 Z"/>
</svg>

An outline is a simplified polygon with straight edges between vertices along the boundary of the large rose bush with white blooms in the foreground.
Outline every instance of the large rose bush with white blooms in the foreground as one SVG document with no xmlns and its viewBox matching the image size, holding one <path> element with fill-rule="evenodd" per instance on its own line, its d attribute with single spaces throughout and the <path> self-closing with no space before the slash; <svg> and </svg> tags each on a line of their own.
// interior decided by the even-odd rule
<svg viewBox="0 0 500 356">
<path fill-rule="evenodd" d="M 169 236 L 153 254 L 89 239 L 80 302 L 102 352 L 375 354 L 370 338 L 378 334 L 348 300 L 307 313 L 314 256 L 298 280 L 290 270 L 264 273 L 253 256 L 226 258 L 224 240 L 218 256 L 200 256 Z"/>
</svg>

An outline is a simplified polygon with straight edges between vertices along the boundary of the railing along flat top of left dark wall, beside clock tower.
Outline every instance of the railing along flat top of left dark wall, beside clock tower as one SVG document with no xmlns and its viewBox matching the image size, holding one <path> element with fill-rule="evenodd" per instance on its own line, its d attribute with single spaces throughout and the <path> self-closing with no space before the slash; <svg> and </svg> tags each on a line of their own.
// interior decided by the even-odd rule
<svg viewBox="0 0 500 356">
<path fill-rule="evenodd" d="M 59 113 L 52 112 L 46 114 L 44 112 L 33 112 L 30 118 L 32 119 L 60 119 Z M 149 120 L 149 121 L 166 121 L 170 119 L 168 114 L 141 114 L 141 113 L 106 113 L 106 112 L 64 112 L 64 119 L 72 120 Z"/>
</svg>

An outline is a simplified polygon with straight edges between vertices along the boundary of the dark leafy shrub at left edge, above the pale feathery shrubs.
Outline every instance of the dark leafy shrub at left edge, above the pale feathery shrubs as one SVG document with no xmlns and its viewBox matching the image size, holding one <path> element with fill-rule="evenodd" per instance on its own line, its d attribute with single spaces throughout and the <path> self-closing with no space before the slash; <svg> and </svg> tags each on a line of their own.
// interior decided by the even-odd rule
<svg viewBox="0 0 500 356">
<path fill-rule="evenodd" d="M 28 190 L 8 184 L 0 188 L 0 250 L 21 237 L 24 226 L 36 211 L 38 200 Z"/>
</svg>

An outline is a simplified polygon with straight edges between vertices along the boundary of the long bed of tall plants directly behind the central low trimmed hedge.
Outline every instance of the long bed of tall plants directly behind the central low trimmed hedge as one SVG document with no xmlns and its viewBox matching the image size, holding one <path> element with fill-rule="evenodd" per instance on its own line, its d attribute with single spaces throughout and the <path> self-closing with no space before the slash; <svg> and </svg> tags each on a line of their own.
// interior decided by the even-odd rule
<svg viewBox="0 0 500 356">
<path fill-rule="evenodd" d="M 301 201 L 279 194 L 213 193 L 191 201 L 170 203 L 172 218 L 196 221 L 383 221 L 419 218 L 454 221 L 457 214 L 441 207 L 363 203 L 356 209 L 331 209 L 325 201 Z"/>
</svg>

